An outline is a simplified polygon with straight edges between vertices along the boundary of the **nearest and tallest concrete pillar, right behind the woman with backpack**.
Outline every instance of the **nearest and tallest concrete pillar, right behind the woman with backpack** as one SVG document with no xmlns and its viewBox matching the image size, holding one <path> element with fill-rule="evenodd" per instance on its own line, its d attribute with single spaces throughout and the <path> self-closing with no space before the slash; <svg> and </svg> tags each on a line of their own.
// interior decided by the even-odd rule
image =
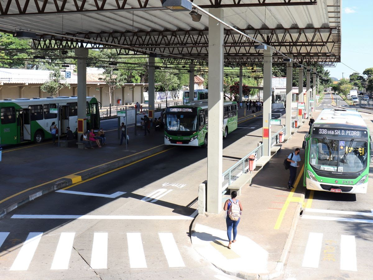
<svg viewBox="0 0 373 280">
<path fill-rule="evenodd" d="M 209 9 L 217 18 L 223 18 L 221 8 Z M 223 174 L 223 37 L 224 28 L 209 18 L 209 134 L 207 148 L 207 212 L 222 210 Z"/>
</svg>

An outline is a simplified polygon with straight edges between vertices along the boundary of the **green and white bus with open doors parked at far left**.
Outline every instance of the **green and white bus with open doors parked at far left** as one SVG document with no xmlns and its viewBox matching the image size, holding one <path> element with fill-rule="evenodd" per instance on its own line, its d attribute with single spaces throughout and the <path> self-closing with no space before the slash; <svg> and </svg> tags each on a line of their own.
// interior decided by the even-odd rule
<svg viewBox="0 0 373 280">
<path fill-rule="evenodd" d="M 60 108 L 60 123 L 57 113 L 50 113 L 50 108 Z M 59 134 L 66 127 L 75 131 L 78 127 L 78 97 L 59 96 L 56 98 L 17 98 L 0 101 L 0 144 L 18 144 L 26 141 L 42 142 L 51 139 L 49 127 L 55 122 Z M 87 128 L 100 127 L 98 102 L 94 97 L 87 97 Z"/>
</svg>

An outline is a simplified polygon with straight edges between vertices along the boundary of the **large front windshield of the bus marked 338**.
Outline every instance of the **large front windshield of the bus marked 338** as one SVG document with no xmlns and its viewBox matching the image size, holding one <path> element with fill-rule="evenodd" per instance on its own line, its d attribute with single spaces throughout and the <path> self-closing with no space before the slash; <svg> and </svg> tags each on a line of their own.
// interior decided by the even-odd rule
<svg viewBox="0 0 373 280">
<path fill-rule="evenodd" d="M 321 171 L 357 173 L 367 166 L 367 141 L 312 138 L 310 164 Z"/>
</svg>

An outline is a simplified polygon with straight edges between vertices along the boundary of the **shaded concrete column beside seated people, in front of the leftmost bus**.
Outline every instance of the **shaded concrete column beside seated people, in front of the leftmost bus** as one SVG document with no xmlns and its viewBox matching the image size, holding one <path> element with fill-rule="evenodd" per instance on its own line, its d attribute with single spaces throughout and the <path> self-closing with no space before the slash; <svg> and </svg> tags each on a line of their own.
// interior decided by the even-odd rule
<svg viewBox="0 0 373 280">
<path fill-rule="evenodd" d="M 83 130 L 87 131 L 87 56 L 88 49 L 78 48 L 75 49 L 75 55 L 78 58 L 78 127 L 79 119 L 83 119 Z M 79 128 L 78 128 L 79 130 Z M 78 133 L 80 139 L 82 133 Z"/>
</svg>

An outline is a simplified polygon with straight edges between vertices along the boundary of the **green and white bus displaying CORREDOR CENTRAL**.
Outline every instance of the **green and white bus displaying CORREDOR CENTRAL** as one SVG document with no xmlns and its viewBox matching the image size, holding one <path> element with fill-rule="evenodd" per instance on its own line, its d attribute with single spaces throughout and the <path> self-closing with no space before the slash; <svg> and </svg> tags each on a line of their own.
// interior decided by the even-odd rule
<svg viewBox="0 0 373 280">
<path fill-rule="evenodd" d="M 208 102 L 198 100 L 181 106 L 167 107 L 164 114 L 164 144 L 207 147 Z M 237 103 L 224 101 L 223 130 L 226 138 L 237 128 Z"/>
</svg>

